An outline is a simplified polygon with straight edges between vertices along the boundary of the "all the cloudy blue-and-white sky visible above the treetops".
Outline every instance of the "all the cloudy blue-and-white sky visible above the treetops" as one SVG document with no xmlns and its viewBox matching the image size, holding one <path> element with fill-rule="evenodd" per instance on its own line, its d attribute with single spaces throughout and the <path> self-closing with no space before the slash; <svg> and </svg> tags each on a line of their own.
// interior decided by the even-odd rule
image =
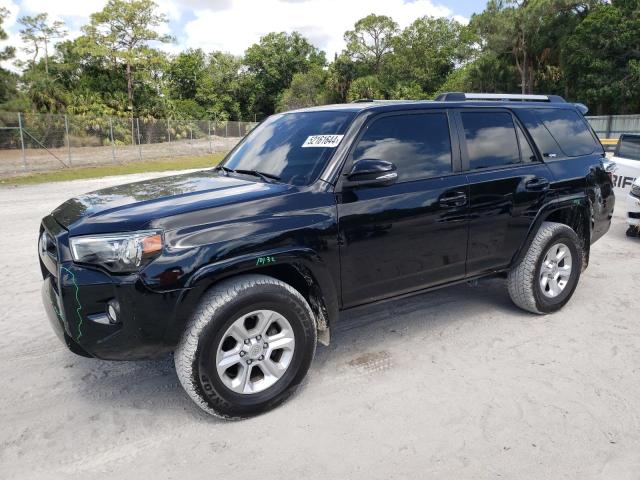
<svg viewBox="0 0 640 480">
<path fill-rule="evenodd" d="M 102 9 L 106 0 L 0 0 L 10 12 L 5 20 L 9 34 L 3 45 L 18 48 L 24 59 L 17 19 L 47 12 L 49 18 L 66 23 L 70 37 L 80 35 L 91 13 Z M 342 36 L 360 18 L 375 13 L 389 15 L 401 27 L 424 15 L 455 18 L 466 22 L 483 10 L 485 0 L 156 0 L 169 19 L 163 33 L 175 42 L 162 45 L 168 53 L 186 48 L 222 50 L 236 55 L 273 31 L 299 31 L 333 58 L 344 48 Z M 5 63 L 5 68 L 15 67 Z"/>
</svg>

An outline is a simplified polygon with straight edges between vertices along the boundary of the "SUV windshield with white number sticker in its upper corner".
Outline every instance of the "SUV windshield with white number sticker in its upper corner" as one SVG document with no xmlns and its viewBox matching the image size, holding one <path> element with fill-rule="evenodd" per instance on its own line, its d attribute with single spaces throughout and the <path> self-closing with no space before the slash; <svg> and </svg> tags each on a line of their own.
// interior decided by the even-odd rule
<svg viewBox="0 0 640 480">
<path fill-rule="evenodd" d="M 309 185 L 342 140 L 354 112 L 300 112 L 273 115 L 258 125 L 223 166 L 257 171 L 292 185 Z"/>
</svg>

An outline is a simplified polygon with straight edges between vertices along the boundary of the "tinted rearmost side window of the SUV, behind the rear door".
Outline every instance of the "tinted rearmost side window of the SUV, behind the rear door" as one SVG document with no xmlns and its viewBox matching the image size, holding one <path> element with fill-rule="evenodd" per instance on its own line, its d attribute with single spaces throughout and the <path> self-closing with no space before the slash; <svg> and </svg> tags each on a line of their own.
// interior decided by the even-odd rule
<svg viewBox="0 0 640 480">
<path fill-rule="evenodd" d="M 536 109 L 536 114 L 568 157 L 589 155 L 598 147 L 587 122 L 573 110 Z"/>
</svg>

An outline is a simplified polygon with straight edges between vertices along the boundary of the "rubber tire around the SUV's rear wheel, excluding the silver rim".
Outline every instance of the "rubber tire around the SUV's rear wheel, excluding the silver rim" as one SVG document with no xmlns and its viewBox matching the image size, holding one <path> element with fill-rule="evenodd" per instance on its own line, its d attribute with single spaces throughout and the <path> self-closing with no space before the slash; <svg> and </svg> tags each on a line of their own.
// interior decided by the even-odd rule
<svg viewBox="0 0 640 480">
<path fill-rule="evenodd" d="M 572 271 L 566 287 L 556 298 L 542 293 L 539 277 L 546 252 L 553 245 L 563 243 L 571 252 Z M 573 295 L 578 285 L 584 262 L 582 242 L 567 225 L 544 222 L 531 242 L 527 253 L 510 271 L 507 286 L 511 300 L 518 307 L 532 313 L 546 314 L 561 309 Z"/>
</svg>

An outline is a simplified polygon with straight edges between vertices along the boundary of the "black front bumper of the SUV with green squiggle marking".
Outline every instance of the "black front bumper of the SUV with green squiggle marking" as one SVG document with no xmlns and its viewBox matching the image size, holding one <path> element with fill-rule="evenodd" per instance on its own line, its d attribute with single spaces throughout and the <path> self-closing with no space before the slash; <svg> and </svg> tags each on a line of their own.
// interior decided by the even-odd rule
<svg viewBox="0 0 640 480">
<path fill-rule="evenodd" d="M 69 350 L 105 360 L 158 358 L 173 350 L 165 332 L 175 321 L 181 290 L 154 292 L 137 275 L 76 265 L 68 255 L 66 231 L 51 217 L 43 222 L 41 232 L 45 230 L 52 245 L 39 249 L 42 301 L 54 332 Z M 115 323 L 106 316 L 109 302 L 119 307 Z"/>
</svg>

